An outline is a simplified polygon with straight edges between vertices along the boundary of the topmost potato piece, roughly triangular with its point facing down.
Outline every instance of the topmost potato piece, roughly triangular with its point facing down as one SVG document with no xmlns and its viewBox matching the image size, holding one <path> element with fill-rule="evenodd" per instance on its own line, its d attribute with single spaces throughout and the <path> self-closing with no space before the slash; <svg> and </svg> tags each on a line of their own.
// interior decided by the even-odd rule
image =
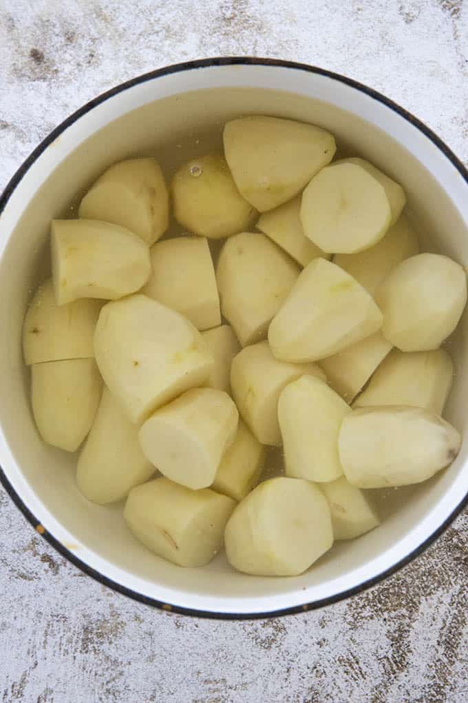
<svg viewBox="0 0 468 703">
<path fill-rule="evenodd" d="M 324 129 L 279 117 L 227 122 L 223 140 L 237 188 L 260 212 L 294 198 L 336 151 Z"/>
</svg>

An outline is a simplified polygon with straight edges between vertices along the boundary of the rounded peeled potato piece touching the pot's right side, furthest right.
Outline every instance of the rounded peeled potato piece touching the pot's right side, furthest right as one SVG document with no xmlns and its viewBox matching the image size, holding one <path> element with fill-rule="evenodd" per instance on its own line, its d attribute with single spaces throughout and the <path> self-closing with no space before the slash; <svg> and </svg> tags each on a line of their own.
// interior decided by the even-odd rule
<svg viewBox="0 0 468 703">
<path fill-rule="evenodd" d="M 402 352 L 437 349 L 467 302 L 467 274 L 441 254 L 417 254 L 396 266 L 375 294 L 384 336 Z"/>
</svg>

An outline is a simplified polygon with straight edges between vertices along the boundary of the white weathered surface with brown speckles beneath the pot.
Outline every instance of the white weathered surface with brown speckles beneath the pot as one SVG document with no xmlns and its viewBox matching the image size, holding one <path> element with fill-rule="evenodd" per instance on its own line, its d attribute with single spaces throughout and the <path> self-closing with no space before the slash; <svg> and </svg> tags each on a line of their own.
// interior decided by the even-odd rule
<svg viewBox="0 0 468 703">
<path fill-rule="evenodd" d="M 468 162 L 468 0 L 0 0 L 0 188 L 96 94 L 223 54 L 358 79 Z M 412 565 L 340 605 L 215 623 L 83 576 L 0 490 L 1 700 L 464 703 L 467 532 L 464 515 Z"/>
</svg>

